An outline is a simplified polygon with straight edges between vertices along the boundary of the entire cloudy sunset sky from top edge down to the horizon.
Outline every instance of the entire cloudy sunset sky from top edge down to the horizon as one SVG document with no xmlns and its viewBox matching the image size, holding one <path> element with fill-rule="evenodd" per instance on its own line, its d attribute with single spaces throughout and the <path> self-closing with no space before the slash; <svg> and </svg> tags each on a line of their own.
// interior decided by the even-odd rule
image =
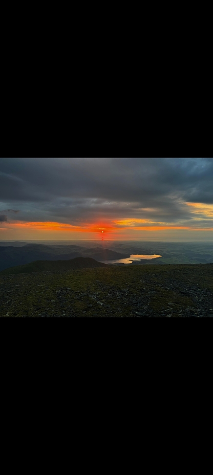
<svg viewBox="0 0 213 475">
<path fill-rule="evenodd" d="M 211 158 L 0 158 L 0 240 L 213 241 Z"/>
</svg>

